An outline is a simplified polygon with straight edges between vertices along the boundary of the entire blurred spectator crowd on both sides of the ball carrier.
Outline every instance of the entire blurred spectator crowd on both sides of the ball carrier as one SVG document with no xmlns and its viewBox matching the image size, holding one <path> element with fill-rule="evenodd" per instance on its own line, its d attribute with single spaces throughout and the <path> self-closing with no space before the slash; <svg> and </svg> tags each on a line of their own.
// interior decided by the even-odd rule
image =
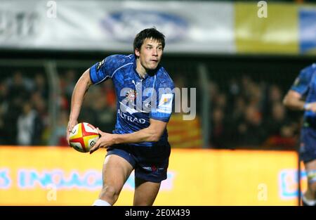
<svg viewBox="0 0 316 220">
<path fill-rule="evenodd" d="M 65 134 L 71 96 L 81 73 L 76 70 L 59 73 L 59 110 L 54 129 L 50 126 L 49 86 L 43 72 L 30 77 L 15 70 L 12 75 L 1 77 L 0 144 L 67 145 Z M 176 86 L 185 86 L 181 77 L 175 82 Z M 209 82 L 210 148 L 295 148 L 301 115 L 290 115 L 282 105 L 287 91 L 277 84 L 254 82 L 247 76 L 229 79 L 227 86 L 228 89 L 220 89 L 217 82 Z M 111 132 L 115 109 L 110 80 L 91 86 L 79 122 L 89 122 Z"/>
</svg>

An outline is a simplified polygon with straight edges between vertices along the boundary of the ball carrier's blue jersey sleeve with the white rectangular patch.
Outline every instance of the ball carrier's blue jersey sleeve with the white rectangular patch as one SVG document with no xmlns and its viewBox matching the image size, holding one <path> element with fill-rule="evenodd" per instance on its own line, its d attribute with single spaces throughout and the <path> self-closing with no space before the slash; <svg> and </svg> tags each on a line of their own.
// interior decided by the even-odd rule
<svg viewBox="0 0 316 220">
<path fill-rule="evenodd" d="M 162 122 L 169 122 L 174 103 L 174 84 L 168 76 L 162 80 L 158 79 L 156 85 L 154 86 L 157 93 L 156 103 L 152 105 L 149 117 Z"/>
</svg>

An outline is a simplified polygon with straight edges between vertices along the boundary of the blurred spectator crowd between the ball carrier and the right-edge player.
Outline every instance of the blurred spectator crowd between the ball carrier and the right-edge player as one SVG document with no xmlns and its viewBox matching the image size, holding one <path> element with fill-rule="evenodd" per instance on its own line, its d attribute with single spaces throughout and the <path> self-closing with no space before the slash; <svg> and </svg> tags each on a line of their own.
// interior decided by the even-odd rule
<svg viewBox="0 0 316 220">
<path fill-rule="evenodd" d="M 211 147 L 296 148 L 303 114 L 282 105 L 287 89 L 249 76 L 230 79 L 225 91 L 209 82 Z"/>
</svg>

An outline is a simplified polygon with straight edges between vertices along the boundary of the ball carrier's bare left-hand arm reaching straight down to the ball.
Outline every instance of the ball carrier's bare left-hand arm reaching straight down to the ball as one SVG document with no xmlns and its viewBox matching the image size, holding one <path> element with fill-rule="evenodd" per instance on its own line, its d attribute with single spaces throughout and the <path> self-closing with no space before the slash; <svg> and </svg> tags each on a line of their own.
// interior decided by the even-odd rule
<svg viewBox="0 0 316 220">
<path fill-rule="evenodd" d="M 84 96 L 91 86 L 92 82 L 89 75 L 90 69 L 86 70 L 83 75 L 81 75 L 76 86 L 74 86 L 74 91 L 72 92 L 72 104 L 70 109 L 70 118 L 67 127 L 67 141 L 69 143 L 69 135 L 72 128 L 78 123 L 77 119 L 79 117 L 79 112 L 81 110 L 81 105 L 84 102 Z"/>
</svg>

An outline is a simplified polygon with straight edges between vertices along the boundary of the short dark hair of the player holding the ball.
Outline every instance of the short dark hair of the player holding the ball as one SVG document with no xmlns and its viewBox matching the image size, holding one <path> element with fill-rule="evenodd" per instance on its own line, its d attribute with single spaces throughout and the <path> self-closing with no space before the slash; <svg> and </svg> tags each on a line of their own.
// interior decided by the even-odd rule
<svg viewBox="0 0 316 220">
<path fill-rule="evenodd" d="M 155 27 L 152 27 L 152 28 L 144 29 L 136 35 L 134 39 L 134 44 L 133 44 L 134 54 L 135 54 L 135 49 L 136 48 L 140 49 L 140 47 L 143 45 L 146 38 L 160 41 L 162 43 L 162 49 L 164 49 L 164 45 L 165 45 L 164 34 L 162 34 L 162 32 L 157 31 Z"/>
</svg>

